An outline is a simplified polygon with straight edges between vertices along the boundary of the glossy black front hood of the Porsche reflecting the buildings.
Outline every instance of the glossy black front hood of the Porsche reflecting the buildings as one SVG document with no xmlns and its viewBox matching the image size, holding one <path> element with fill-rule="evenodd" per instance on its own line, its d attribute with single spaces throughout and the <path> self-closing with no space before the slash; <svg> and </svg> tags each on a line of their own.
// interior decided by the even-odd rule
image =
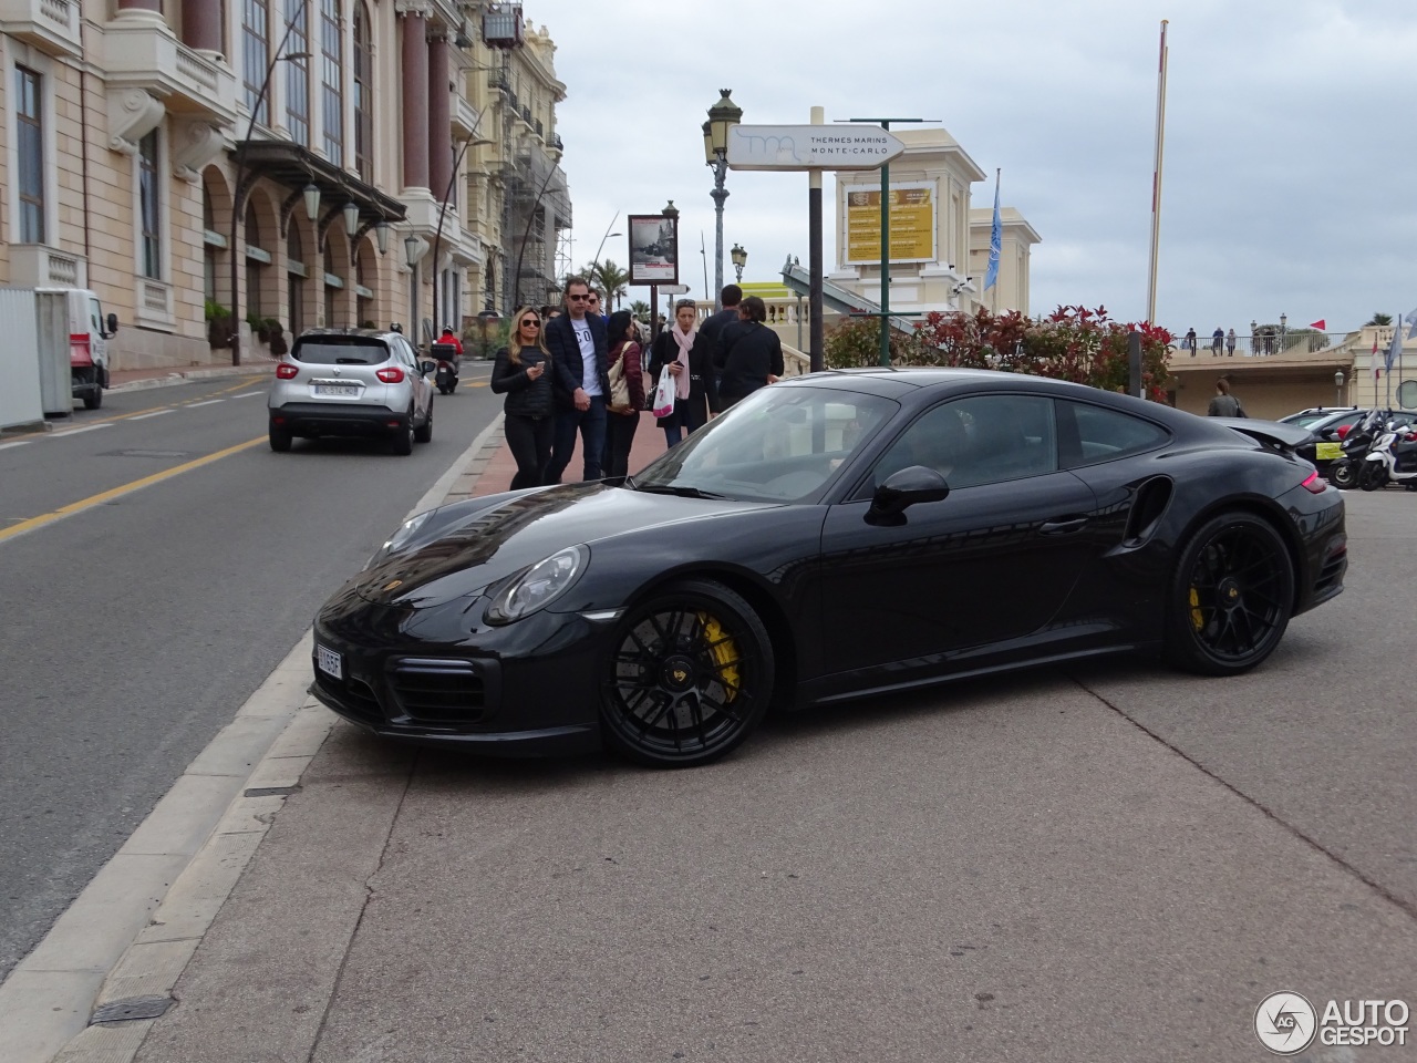
<svg viewBox="0 0 1417 1063">
<path fill-rule="evenodd" d="M 578 543 L 653 536 L 687 520 L 706 520 L 778 503 L 652 495 L 602 483 L 567 483 L 509 496 L 463 519 L 439 522 L 429 539 L 380 558 L 356 581 L 366 601 L 427 608 L 480 594 L 492 584 Z"/>
</svg>

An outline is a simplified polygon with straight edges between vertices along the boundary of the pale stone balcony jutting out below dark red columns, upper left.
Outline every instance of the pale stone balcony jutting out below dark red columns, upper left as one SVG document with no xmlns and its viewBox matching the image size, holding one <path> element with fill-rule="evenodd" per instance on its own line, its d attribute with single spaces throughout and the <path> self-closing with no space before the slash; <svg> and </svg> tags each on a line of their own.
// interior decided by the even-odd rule
<svg viewBox="0 0 1417 1063">
<path fill-rule="evenodd" d="M 179 41 L 164 23 L 115 18 L 105 27 L 103 51 L 109 86 L 145 89 L 174 115 L 218 126 L 235 122 L 235 74 Z"/>
</svg>

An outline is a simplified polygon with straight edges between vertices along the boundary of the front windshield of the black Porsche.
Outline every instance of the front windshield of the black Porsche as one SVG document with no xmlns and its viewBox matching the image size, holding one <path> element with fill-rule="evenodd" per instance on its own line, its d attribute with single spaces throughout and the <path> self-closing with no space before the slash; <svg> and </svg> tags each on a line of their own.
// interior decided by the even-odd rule
<svg viewBox="0 0 1417 1063">
<path fill-rule="evenodd" d="M 626 486 L 741 500 L 805 502 L 896 414 L 888 398 L 765 387 L 667 451 Z"/>
</svg>

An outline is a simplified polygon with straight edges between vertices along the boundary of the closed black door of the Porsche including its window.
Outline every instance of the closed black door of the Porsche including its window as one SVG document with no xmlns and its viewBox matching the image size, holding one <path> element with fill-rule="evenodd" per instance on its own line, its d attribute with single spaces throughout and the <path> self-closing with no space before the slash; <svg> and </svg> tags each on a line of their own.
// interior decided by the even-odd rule
<svg viewBox="0 0 1417 1063">
<path fill-rule="evenodd" d="M 949 495 L 898 526 L 870 523 L 874 488 L 911 465 L 939 471 Z M 823 523 L 823 659 L 839 685 L 904 683 L 1023 651 L 1017 641 L 1046 628 L 1084 567 L 1094 509 L 1058 468 L 1050 398 L 972 395 L 925 411 Z"/>
</svg>

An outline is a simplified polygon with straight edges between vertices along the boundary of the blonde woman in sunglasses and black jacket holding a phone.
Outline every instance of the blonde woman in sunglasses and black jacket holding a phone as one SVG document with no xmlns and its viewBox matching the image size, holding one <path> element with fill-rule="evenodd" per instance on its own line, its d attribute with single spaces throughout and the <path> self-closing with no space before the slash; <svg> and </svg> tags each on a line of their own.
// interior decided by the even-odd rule
<svg viewBox="0 0 1417 1063">
<path fill-rule="evenodd" d="M 551 437 L 555 428 L 555 404 L 547 369 L 551 354 L 541 336 L 541 315 L 530 306 L 517 310 L 512 337 L 497 351 L 492 364 L 492 390 L 506 395 L 503 432 L 517 462 L 512 490 L 537 488 L 546 479 L 551 461 Z"/>
</svg>

